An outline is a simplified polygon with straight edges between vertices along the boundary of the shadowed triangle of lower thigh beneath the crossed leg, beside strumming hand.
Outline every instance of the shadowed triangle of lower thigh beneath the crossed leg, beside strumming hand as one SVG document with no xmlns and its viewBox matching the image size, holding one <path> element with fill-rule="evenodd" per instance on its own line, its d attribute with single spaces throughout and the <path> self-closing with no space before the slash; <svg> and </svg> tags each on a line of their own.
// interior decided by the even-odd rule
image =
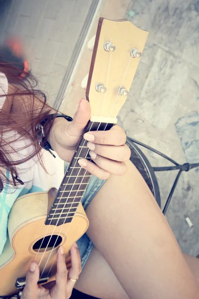
<svg viewBox="0 0 199 299">
<path fill-rule="evenodd" d="M 94 247 L 75 289 L 100 299 L 129 299 L 100 252 Z"/>
</svg>

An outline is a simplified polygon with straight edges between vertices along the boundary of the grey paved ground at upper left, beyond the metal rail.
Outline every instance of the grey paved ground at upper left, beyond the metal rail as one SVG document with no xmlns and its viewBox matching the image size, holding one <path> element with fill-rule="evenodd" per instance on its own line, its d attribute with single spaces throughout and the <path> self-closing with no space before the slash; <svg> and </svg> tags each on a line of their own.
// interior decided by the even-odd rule
<svg viewBox="0 0 199 299">
<path fill-rule="evenodd" d="M 17 34 L 39 86 L 54 104 L 92 0 L 9 0 L 0 41 Z M 5 5 L 5 4 L 4 4 Z"/>
</svg>

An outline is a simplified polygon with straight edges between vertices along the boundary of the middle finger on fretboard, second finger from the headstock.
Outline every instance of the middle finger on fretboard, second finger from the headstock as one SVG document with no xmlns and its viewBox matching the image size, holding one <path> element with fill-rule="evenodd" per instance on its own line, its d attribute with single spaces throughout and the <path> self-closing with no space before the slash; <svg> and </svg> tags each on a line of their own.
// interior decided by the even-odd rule
<svg viewBox="0 0 199 299">
<path fill-rule="evenodd" d="M 129 147 L 124 144 L 120 147 L 115 146 L 102 146 L 98 144 L 94 144 L 92 142 L 87 143 L 87 147 L 95 153 L 103 156 L 105 158 L 109 158 L 115 161 L 127 161 L 130 158 L 131 151 Z"/>
</svg>

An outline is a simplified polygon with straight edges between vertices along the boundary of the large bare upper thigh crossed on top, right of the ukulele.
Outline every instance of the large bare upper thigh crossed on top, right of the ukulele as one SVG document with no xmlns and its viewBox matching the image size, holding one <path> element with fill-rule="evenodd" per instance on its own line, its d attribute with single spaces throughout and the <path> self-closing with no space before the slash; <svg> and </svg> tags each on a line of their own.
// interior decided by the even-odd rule
<svg viewBox="0 0 199 299">
<path fill-rule="evenodd" d="M 111 175 L 89 205 L 89 237 L 129 298 L 198 298 L 197 280 L 171 228 L 139 172 L 127 165 L 127 173 Z"/>
</svg>

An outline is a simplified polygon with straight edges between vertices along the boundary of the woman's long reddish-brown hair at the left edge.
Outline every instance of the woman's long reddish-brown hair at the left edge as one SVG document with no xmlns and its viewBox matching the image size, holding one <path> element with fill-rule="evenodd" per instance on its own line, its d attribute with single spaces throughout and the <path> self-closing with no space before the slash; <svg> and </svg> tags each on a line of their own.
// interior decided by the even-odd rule
<svg viewBox="0 0 199 299">
<path fill-rule="evenodd" d="M 6 96 L 6 101 L 11 103 L 8 111 L 0 110 L 0 187 L 2 188 L 6 181 L 15 186 L 22 183 L 20 177 L 18 179 L 16 165 L 28 161 L 35 155 L 42 164 L 40 150 L 43 144 L 39 145 L 35 128 L 52 112 L 46 103 L 46 95 L 36 89 L 37 81 L 30 72 L 21 80 L 21 77 L 16 75 L 16 66 L 8 62 L 0 62 L 0 72 L 6 76 L 9 84 L 8 93 L 0 97 Z M 45 124 L 46 139 L 51 126 L 52 121 Z M 27 147 L 31 149 L 28 156 L 19 160 L 11 158 L 11 154 L 16 152 L 14 143 L 18 139 L 16 135 L 14 137 L 14 131 L 20 135 L 20 140 L 26 140 L 27 145 L 21 149 Z M 8 139 L 7 133 L 10 136 Z M 33 147 L 30 147 L 32 145 Z M 17 147 L 18 150 L 20 149 Z M 42 166 L 44 167 L 43 164 Z M 7 180 L 5 169 L 11 173 L 11 180 Z"/>
</svg>

